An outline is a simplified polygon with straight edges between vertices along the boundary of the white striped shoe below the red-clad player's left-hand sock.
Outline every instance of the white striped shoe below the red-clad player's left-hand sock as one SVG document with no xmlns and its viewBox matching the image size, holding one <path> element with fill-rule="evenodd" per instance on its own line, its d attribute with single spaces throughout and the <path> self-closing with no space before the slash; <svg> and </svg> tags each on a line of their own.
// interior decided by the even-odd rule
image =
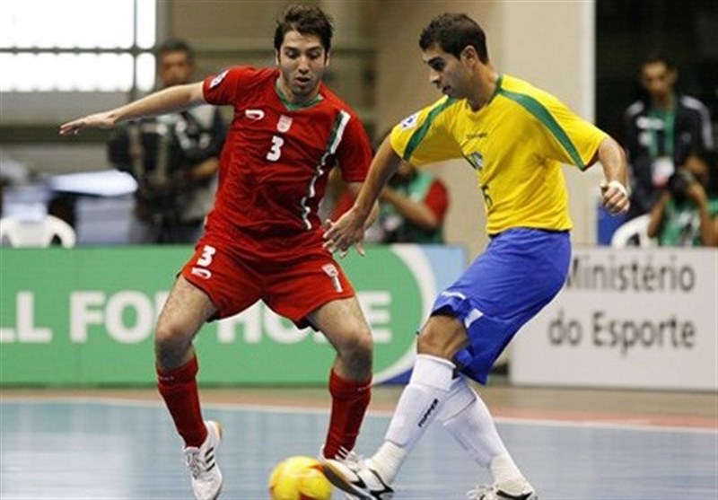
<svg viewBox="0 0 718 500">
<path fill-rule="evenodd" d="M 222 471 L 215 459 L 215 453 L 222 442 L 222 426 L 206 420 L 207 437 L 197 448 L 185 448 L 185 459 L 192 476 L 192 491 L 197 500 L 216 500 L 222 491 Z"/>
</svg>

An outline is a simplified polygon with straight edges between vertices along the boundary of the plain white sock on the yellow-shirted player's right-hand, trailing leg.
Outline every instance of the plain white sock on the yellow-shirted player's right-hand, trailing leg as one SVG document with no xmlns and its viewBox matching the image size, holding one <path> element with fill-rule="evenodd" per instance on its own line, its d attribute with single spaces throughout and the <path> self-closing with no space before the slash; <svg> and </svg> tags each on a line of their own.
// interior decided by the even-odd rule
<svg viewBox="0 0 718 500">
<path fill-rule="evenodd" d="M 438 418 L 460 446 L 479 465 L 491 471 L 495 483 L 523 478 L 486 404 L 463 378 L 452 385 Z"/>
</svg>

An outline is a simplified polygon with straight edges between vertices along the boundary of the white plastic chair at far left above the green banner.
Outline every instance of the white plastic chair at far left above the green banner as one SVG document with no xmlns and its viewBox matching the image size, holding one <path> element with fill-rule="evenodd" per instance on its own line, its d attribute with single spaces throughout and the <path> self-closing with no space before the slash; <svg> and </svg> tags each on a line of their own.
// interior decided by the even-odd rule
<svg viewBox="0 0 718 500">
<path fill-rule="evenodd" d="M 72 226 L 55 215 L 0 219 L 0 242 L 6 240 L 13 247 L 48 247 L 56 236 L 66 249 L 74 247 L 77 241 Z"/>
</svg>

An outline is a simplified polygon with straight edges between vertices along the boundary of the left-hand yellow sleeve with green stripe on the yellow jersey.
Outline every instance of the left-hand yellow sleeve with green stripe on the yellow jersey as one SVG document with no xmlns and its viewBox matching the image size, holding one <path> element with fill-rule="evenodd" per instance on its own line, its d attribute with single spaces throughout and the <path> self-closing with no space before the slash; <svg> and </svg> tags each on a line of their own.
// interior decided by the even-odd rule
<svg viewBox="0 0 718 500">
<path fill-rule="evenodd" d="M 416 166 L 461 158 L 460 147 L 450 132 L 450 111 L 456 103 L 442 98 L 392 128 L 390 144 L 396 154 Z"/>
</svg>

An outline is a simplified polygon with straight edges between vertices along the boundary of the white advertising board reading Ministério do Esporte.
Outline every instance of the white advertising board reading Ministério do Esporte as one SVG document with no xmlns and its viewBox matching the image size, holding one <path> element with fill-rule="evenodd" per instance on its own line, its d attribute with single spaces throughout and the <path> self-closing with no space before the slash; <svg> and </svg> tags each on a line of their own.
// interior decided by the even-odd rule
<svg viewBox="0 0 718 500">
<path fill-rule="evenodd" d="M 718 390 L 718 250 L 576 248 L 512 343 L 511 382 Z"/>
</svg>

